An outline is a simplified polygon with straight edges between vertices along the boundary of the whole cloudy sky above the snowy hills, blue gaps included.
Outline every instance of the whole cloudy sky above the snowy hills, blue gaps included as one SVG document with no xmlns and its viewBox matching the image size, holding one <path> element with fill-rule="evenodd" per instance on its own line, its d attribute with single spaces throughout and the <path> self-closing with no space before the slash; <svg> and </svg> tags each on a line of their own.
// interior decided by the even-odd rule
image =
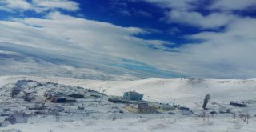
<svg viewBox="0 0 256 132">
<path fill-rule="evenodd" d="M 0 0 L 0 29 L 0 50 L 70 66 L 256 78 L 255 0 Z"/>
</svg>

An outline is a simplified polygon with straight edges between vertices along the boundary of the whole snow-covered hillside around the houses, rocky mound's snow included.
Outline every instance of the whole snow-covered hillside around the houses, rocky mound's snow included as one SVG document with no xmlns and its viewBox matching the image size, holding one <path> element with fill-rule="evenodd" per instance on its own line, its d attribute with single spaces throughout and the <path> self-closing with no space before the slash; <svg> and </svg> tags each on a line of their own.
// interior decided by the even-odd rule
<svg viewBox="0 0 256 132">
<path fill-rule="evenodd" d="M 23 80 L 23 81 L 22 81 Z M 33 80 L 33 81 L 26 81 Z M 18 97 L 8 97 L 8 91 L 17 84 L 22 89 L 37 90 L 38 95 L 46 90 L 59 90 L 70 93 L 72 89 L 82 93 L 85 90 L 105 90 L 105 94 L 122 96 L 123 92 L 136 90 L 144 94 L 144 100 L 150 102 L 164 102 L 187 106 L 192 113 L 175 110 L 156 114 L 134 114 L 124 110 L 125 104 L 115 104 L 103 100 L 99 104 L 93 102 L 78 102 L 58 104 L 63 108 L 60 119 L 41 113 L 28 118 L 27 123 L 14 124 L 0 128 L 0 131 L 34 132 L 34 131 L 255 131 L 256 123 L 256 79 L 249 80 L 216 80 L 177 78 L 150 78 L 136 81 L 102 81 L 84 80 L 64 77 L 35 77 L 35 76 L 1 76 L 0 95 L 1 104 L 10 106 L 10 110 L 21 109 L 27 111 L 27 106 L 34 103 L 20 101 Z M 46 84 L 46 85 L 44 85 Z M 50 84 L 50 86 L 48 85 Z M 202 110 L 203 99 L 210 94 L 209 110 Z M 92 98 L 86 98 L 86 100 Z M 7 102 L 12 102 L 8 104 Z M 95 102 L 94 102 L 95 101 Z M 245 103 L 246 107 L 230 106 L 230 102 Z M 16 106 L 20 104 L 20 107 Z M 16 105 L 16 106 L 15 106 Z M 54 107 L 54 103 L 46 102 L 47 109 Z M 80 105 L 80 106 L 79 106 Z M 84 110 L 78 110 L 78 107 Z M 54 107 L 55 108 L 55 107 Z M 46 110 L 43 110 L 47 113 Z M 66 112 L 65 112 L 66 111 Z M 68 112 L 67 112 L 68 111 Z M 28 112 L 31 112 L 28 110 Z M 42 112 L 42 111 L 41 111 Z M 211 112 L 216 112 L 212 113 Z M 66 114 L 71 113 L 71 114 Z M 206 119 L 202 116 L 206 115 Z M 250 117 L 249 123 L 243 122 L 239 116 Z M 250 116 L 249 116 L 250 115 Z M 58 120 L 58 122 L 57 122 Z"/>
</svg>

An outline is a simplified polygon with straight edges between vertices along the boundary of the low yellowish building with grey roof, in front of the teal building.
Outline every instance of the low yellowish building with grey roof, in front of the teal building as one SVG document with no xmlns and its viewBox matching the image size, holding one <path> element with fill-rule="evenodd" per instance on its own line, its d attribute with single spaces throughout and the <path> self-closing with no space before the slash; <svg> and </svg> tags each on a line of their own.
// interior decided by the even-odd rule
<svg viewBox="0 0 256 132">
<path fill-rule="evenodd" d="M 150 106 L 146 103 L 139 103 L 138 105 L 128 105 L 125 107 L 125 110 L 134 113 L 145 113 L 152 114 L 156 112 L 156 108 L 154 106 Z"/>
</svg>

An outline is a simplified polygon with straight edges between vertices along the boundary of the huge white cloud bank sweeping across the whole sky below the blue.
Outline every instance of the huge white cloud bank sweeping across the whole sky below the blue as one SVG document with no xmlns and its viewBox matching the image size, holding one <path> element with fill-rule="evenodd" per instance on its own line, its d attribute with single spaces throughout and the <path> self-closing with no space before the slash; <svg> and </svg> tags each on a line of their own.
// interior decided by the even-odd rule
<svg viewBox="0 0 256 132">
<path fill-rule="evenodd" d="M 161 2 L 169 3 L 167 0 Z M 125 58 L 192 77 L 256 78 L 255 18 L 236 17 L 227 13 L 204 16 L 187 11 L 192 8 L 187 6 L 188 1 L 175 2 L 174 5 L 170 3 L 171 6 L 178 6 L 168 12 L 167 15 L 171 14 L 168 21 L 201 28 L 226 25 L 225 30 L 222 33 L 189 35 L 187 38 L 200 39 L 202 42 L 177 47 L 173 49 L 175 52 L 165 52 L 149 46 L 165 50 L 162 45 L 170 45 L 170 42 L 134 37 L 134 34 L 149 34 L 150 30 L 115 26 L 54 12 L 46 18 L 0 21 L 0 41 L 66 54 L 81 60 L 91 58 L 107 63 L 109 60 L 106 58 L 109 58 L 119 63 L 116 58 Z M 178 7 L 182 10 L 178 10 Z"/>
</svg>

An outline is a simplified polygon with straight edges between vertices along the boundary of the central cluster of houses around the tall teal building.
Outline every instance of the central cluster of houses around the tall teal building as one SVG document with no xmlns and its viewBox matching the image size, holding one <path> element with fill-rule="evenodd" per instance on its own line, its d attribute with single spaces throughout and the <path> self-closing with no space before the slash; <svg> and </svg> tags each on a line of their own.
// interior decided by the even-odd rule
<svg viewBox="0 0 256 132">
<path fill-rule="evenodd" d="M 122 97 L 112 97 L 108 101 L 114 103 L 125 103 L 125 110 L 133 113 L 145 113 L 153 114 L 158 110 L 170 111 L 170 110 L 189 110 L 184 106 L 178 107 L 166 103 L 158 102 L 146 102 L 143 101 L 143 94 L 135 91 L 125 92 Z"/>
</svg>

